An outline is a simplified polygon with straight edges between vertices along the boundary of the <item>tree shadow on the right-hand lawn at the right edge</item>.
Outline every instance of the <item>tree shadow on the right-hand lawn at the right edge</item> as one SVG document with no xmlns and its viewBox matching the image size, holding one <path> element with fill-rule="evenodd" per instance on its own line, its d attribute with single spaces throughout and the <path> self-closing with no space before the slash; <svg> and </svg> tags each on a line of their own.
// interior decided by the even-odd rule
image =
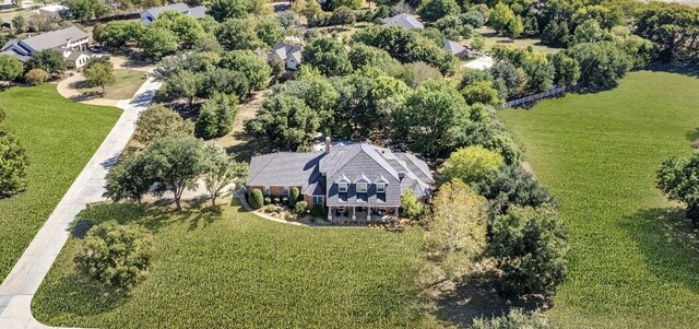
<svg viewBox="0 0 699 329">
<path fill-rule="evenodd" d="M 685 218 L 684 209 L 641 210 L 621 227 L 637 240 L 655 277 L 699 293 L 699 230 Z"/>
</svg>

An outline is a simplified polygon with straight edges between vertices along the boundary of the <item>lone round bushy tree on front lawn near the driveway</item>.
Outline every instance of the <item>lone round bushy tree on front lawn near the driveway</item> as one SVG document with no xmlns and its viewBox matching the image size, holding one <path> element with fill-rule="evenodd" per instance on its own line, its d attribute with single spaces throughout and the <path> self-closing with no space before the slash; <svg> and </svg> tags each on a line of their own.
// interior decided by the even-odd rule
<svg viewBox="0 0 699 329">
<path fill-rule="evenodd" d="M 75 263 L 109 287 L 129 289 L 145 279 L 152 258 L 153 244 L 145 230 L 109 221 L 90 230 Z"/>
</svg>

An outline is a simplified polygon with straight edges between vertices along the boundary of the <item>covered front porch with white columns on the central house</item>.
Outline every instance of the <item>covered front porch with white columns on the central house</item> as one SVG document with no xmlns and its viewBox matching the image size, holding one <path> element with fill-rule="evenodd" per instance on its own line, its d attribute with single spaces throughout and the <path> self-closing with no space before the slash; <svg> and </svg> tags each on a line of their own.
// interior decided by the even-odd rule
<svg viewBox="0 0 699 329">
<path fill-rule="evenodd" d="M 333 224 L 387 223 L 398 219 L 399 207 L 328 207 L 328 221 Z"/>
</svg>

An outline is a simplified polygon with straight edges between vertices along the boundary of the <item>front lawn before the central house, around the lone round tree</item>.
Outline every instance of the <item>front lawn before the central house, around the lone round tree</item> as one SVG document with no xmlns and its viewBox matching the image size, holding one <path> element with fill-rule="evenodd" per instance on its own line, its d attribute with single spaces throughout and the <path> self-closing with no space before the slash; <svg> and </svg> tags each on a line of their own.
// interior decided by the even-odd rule
<svg viewBox="0 0 699 329">
<path fill-rule="evenodd" d="M 308 228 L 224 205 L 176 214 L 106 204 L 93 220 L 154 232 L 150 277 L 130 296 L 104 294 L 75 272 L 70 238 L 33 302 L 46 325 L 84 328 L 408 327 L 420 231 Z"/>
</svg>

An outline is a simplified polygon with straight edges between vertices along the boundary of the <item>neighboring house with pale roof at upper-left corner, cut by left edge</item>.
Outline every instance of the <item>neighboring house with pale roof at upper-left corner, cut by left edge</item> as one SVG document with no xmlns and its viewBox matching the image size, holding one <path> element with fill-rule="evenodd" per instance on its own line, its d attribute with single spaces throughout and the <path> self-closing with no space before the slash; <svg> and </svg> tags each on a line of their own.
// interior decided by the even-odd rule
<svg viewBox="0 0 699 329">
<path fill-rule="evenodd" d="M 90 37 L 82 30 L 70 26 L 63 30 L 51 31 L 38 34 L 26 39 L 11 39 L 0 51 L 16 57 L 23 62 L 28 61 L 32 55 L 38 50 L 56 49 L 63 54 L 63 58 L 80 59 L 80 56 L 73 52 L 82 52 L 87 49 Z M 82 64 L 76 63 L 78 67 Z"/>
</svg>

